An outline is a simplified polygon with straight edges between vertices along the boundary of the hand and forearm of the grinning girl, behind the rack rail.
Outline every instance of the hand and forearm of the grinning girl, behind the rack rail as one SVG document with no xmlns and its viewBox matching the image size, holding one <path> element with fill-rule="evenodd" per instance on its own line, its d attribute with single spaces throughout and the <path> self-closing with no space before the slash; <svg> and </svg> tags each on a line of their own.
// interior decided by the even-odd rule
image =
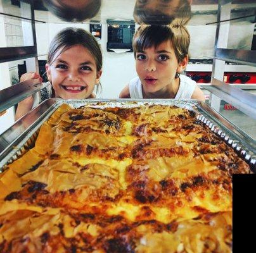
<svg viewBox="0 0 256 253">
<path fill-rule="evenodd" d="M 24 82 L 29 79 L 39 79 L 39 82 L 42 82 L 42 77 L 40 77 L 39 73 L 30 72 L 25 73 L 20 77 L 20 82 Z M 22 118 L 23 115 L 26 113 L 29 113 L 29 111 L 32 109 L 34 99 L 33 96 L 27 97 L 23 101 L 18 103 L 18 107 L 16 109 L 15 113 L 15 120 L 18 120 L 19 118 Z"/>
</svg>

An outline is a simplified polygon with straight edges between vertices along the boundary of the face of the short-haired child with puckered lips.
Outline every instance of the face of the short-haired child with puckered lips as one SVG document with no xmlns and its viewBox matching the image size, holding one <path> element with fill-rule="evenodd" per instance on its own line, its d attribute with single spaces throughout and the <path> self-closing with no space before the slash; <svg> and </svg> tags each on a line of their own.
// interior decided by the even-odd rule
<svg viewBox="0 0 256 253">
<path fill-rule="evenodd" d="M 146 93 L 165 92 L 179 84 L 179 79 L 175 79 L 176 73 L 181 73 L 187 63 L 188 58 L 178 62 L 170 40 L 162 42 L 158 47 L 136 52 L 136 71 Z"/>
</svg>

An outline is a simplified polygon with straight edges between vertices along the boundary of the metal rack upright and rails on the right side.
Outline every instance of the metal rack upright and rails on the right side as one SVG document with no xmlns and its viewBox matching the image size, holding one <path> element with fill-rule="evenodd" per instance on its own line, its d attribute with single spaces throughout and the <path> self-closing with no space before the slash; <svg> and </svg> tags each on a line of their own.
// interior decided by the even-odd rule
<svg viewBox="0 0 256 253">
<path fill-rule="evenodd" d="M 211 92 L 210 105 L 217 111 L 220 110 L 221 99 L 223 99 L 243 113 L 256 119 L 256 96 L 234 87 L 234 85 L 222 82 L 225 61 L 256 66 L 256 51 L 227 49 L 231 3 L 232 0 L 219 1 L 212 80 L 210 85 L 204 86 L 204 89 Z"/>
</svg>

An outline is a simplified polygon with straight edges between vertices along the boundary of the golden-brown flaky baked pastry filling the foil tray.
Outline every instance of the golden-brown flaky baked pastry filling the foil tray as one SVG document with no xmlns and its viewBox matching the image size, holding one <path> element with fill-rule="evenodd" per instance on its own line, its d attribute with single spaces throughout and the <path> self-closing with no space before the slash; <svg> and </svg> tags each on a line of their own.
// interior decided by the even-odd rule
<svg viewBox="0 0 256 253">
<path fill-rule="evenodd" d="M 0 252 L 231 252 L 233 173 L 187 109 L 64 104 L 0 175 Z"/>
</svg>

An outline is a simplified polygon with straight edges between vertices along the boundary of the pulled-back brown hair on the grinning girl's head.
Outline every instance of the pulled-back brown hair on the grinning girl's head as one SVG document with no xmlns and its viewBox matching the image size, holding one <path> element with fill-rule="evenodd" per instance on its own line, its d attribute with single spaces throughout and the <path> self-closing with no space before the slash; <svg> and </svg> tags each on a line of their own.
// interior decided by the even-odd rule
<svg viewBox="0 0 256 253">
<path fill-rule="evenodd" d="M 55 35 L 53 40 L 51 40 L 47 58 L 49 65 L 54 62 L 58 55 L 75 45 L 84 46 L 89 50 L 89 52 L 91 52 L 91 55 L 96 62 L 97 72 L 100 71 L 103 65 L 103 57 L 98 42 L 93 37 L 93 35 L 91 35 L 89 32 L 86 32 L 86 30 L 73 27 L 61 30 L 58 34 Z M 58 55 L 56 55 L 57 52 Z M 97 92 L 98 86 L 101 87 L 100 83 L 97 85 Z"/>
</svg>

